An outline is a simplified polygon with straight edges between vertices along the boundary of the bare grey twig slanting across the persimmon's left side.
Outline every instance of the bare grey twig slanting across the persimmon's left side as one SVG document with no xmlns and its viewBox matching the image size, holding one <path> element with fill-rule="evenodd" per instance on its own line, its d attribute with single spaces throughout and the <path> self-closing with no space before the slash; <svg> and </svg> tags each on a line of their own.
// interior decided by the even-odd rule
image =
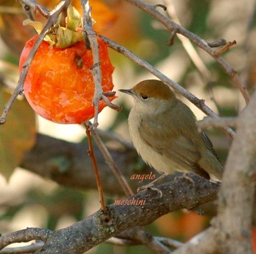
<svg viewBox="0 0 256 254">
<path fill-rule="evenodd" d="M 20 73 L 17 87 L 14 90 L 13 94 L 11 95 L 9 101 L 4 106 L 3 113 L 0 116 L 0 125 L 5 123 L 8 112 L 9 112 L 12 104 L 18 97 L 18 95 L 23 93 L 23 85 L 26 80 L 29 67 L 30 67 L 32 60 L 33 60 L 35 54 L 37 53 L 38 48 L 41 45 L 45 35 L 50 30 L 50 28 L 57 22 L 58 16 L 61 13 L 62 9 L 67 7 L 69 5 L 69 3 L 70 3 L 70 0 L 61 0 L 53 10 L 49 11 L 49 13 L 48 13 L 49 18 L 48 18 L 47 24 L 43 28 L 43 30 L 40 33 L 40 35 L 38 36 L 34 46 L 32 47 L 31 51 L 29 52 L 26 62 L 23 63 L 23 70 Z"/>
</svg>

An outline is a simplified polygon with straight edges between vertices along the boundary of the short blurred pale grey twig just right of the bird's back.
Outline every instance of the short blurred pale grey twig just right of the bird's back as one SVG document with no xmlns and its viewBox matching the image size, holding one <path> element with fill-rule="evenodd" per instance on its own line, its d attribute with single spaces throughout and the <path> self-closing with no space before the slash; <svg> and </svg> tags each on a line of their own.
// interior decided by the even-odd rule
<svg viewBox="0 0 256 254">
<path fill-rule="evenodd" d="M 197 122 L 197 126 L 199 130 L 205 130 L 208 127 L 236 127 L 237 126 L 237 118 L 236 117 L 229 117 L 229 118 L 204 118 L 201 121 Z"/>
</svg>

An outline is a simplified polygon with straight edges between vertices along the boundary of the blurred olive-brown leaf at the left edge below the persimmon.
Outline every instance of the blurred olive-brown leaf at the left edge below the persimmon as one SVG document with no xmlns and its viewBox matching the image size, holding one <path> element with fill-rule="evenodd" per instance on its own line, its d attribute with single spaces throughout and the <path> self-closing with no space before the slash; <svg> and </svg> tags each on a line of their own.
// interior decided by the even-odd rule
<svg viewBox="0 0 256 254">
<path fill-rule="evenodd" d="M 0 89 L 0 109 L 9 100 L 9 93 Z M 0 173 L 8 180 L 24 153 L 35 142 L 36 116 L 27 100 L 16 100 L 6 123 L 0 126 Z"/>
</svg>

